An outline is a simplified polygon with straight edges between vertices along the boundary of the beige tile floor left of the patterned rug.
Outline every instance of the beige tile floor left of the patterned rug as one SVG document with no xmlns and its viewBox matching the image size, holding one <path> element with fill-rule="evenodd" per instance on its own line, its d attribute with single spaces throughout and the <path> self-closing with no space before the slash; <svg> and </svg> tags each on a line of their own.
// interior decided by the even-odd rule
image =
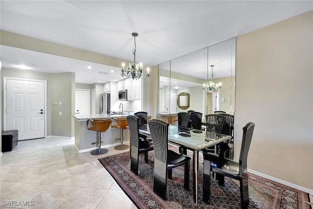
<svg viewBox="0 0 313 209">
<path fill-rule="evenodd" d="M 78 153 L 74 139 L 19 141 L 0 156 L 0 208 L 136 209 L 97 160 L 123 152 L 108 150 Z"/>
</svg>

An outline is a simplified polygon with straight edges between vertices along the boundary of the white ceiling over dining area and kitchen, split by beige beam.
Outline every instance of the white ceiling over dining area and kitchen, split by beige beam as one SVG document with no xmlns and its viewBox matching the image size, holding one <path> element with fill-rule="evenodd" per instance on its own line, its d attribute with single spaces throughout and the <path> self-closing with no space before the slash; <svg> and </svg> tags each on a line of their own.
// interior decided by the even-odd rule
<svg viewBox="0 0 313 209">
<path fill-rule="evenodd" d="M 312 9 L 311 0 L 1 0 L 0 29 L 125 61 L 133 59 L 131 33 L 137 32 L 136 61 L 153 67 Z M 72 71 L 77 83 L 121 79 L 117 67 L 9 46 L 1 46 L 0 53 L 6 68 Z M 110 70 L 114 73 L 99 74 Z"/>
</svg>

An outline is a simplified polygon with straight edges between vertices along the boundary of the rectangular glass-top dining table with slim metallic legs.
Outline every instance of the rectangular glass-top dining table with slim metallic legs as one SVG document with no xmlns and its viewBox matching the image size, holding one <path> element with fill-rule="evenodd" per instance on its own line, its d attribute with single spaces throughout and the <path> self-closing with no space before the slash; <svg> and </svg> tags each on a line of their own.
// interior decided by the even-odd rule
<svg viewBox="0 0 313 209">
<path fill-rule="evenodd" d="M 139 133 L 150 136 L 148 125 L 140 125 Z M 168 141 L 193 150 L 193 197 L 198 204 L 198 156 L 199 151 L 214 146 L 222 141 L 231 139 L 231 136 L 201 131 L 192 128 L 169 125 Z"/>
</svg>

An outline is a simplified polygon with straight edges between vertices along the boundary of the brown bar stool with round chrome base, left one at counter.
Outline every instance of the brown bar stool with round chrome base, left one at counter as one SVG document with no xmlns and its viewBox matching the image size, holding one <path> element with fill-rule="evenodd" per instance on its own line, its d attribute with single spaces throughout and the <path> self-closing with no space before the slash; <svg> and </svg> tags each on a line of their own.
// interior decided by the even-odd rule
<svg viewBox="0 0 313 209">
<path fill-rule="evenodd" d="M 93 126 L 89 127 L 89 121 L 93 122 Z M 87 129 L 90 131 L 97 131 L 97 135 L 99 134 L 100 136 L 97 137 L 96 142 L 92 142 L 91 144 L 98 144 L 98 149 L 94 149 L 90 152 L 91 155 L 102 155 L 108 152 L 107 149 L 101 148 L 101 133 L 105 132 L 109 129 L 110 125 L 112 122 L 112 118 L 107 118 L 107 119 L 88 119 L 87 121 Z"/>
</svg>

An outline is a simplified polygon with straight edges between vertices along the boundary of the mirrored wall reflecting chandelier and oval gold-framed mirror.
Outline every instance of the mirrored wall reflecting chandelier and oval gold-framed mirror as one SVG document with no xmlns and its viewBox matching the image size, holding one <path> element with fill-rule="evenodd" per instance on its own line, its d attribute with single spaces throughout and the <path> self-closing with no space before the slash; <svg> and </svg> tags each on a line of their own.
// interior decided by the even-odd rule
<svg viewBox="0 0 313 209">
<path fill-rule="evenodd" d="M 233 38 L 160 64 L 158 116 L 190 110 L 203 116 L 214 111 L 234 115 L 235 56 Z M 205 88 L 210 81 L 221 84 L 221 88 Z"/>
</svg>

